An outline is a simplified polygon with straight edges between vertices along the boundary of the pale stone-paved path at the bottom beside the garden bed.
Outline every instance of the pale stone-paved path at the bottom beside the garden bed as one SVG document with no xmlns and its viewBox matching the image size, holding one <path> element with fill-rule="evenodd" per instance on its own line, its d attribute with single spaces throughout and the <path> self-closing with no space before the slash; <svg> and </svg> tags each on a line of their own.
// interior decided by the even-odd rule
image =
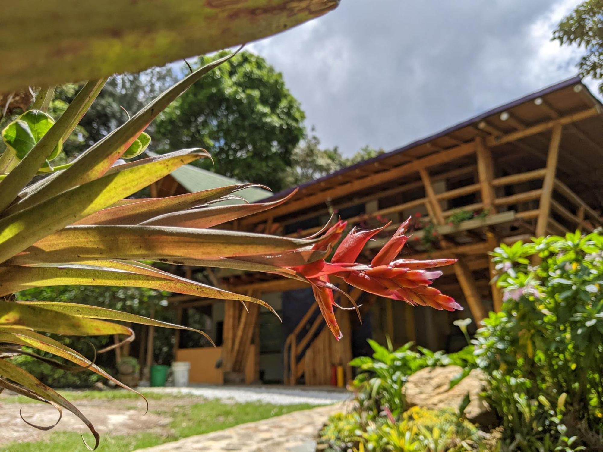
<svg viewBox="0 0 603 452">
<path fill-rule="evenodd" d="M 296 411 L 139 451 L 314 452 L 318 431 L 330 415 L 342 409 L 342 404 L 336 404 Z"/>
</svg>

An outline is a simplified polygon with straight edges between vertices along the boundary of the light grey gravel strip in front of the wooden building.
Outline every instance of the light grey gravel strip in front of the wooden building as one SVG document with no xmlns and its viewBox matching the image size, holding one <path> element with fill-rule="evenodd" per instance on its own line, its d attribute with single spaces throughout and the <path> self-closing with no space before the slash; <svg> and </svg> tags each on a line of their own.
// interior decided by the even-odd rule
<svg viewBox="0 0 603 452">
<path fill-rule="evenodd" d="M 318 391 L 279 386 L 191 386 L 188 388 L 144 388 L 144 391 L 165 392 L 168 394 L 191 394 L 206 399 L 232 400 L 236 403 L 264 402 L 274 405 L 295 405 L 309 403 L 314 405 L 330 405 L 350 400 L 352 396 L 346 391 Z"/>
</svg>

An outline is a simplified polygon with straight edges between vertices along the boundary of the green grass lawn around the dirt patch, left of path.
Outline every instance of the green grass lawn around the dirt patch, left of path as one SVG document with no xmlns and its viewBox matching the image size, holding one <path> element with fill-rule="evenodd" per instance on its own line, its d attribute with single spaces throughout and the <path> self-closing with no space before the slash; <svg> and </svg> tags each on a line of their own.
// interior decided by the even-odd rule
<svg viewBox="0 0 603 452">
<path fill-rule="evenodd" d="M 63 393 L 70 400 L 121 400 L 138 397 L 125 391 L 107 391 L 107 392 L 68 392 Z M 149 400 L 171 398 L 178 400 L 177 395 L 157 394 L 156 392 L 147 392 L 145 397 Z M 2 398 L 2 401 L 25 401 L 25 397 Z M 111 435 L 110 433 L 101 433 L 101 444 L 97 451 L 133 451 L 139 448 L 151 447 L 163 444 L 165 442 L 176 441 L 192 435 L 201 435 L 203 433 L 215 432 L 244 422 L 260 421 L 261 419 L 280 416 L 291 413 L 296 410 L 312 408 L 310 404 L 298 404 L 288 406 L 278 406 L 262 403 L 223 403 L 218 400 L 204 401 L 203 403 L 182 404 L 172 403 L 169 406 L 162 404 L 151 404 L 150 411 L 160 415 L 169 416 L 172 419 L 170 435 L 159 435 L 157 433 L 138 432 L 133 435 Z M 119 404 L 115 405 L 116 413 L 119 413 Z M 86 427 L 82 428 L 85 432 Z M 84 433 L 84 438 L 89 444 L 92 444 L 92 435 Z M 86 451 L 86 447 L 81 441 L 80 433 L 77 432 L 53 432 L 48 435 L 45 441 L 37 442 L 13 442 L 0 445 L 2 452 L 79 452 Z"/>
</svg>

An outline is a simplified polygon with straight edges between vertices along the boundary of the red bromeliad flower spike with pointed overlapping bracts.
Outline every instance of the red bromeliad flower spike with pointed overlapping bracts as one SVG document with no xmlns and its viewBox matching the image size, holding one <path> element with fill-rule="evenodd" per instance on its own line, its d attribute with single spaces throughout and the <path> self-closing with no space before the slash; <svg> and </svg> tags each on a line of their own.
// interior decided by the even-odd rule
<svg viewBox="0 0 603 452">
<path fill-rule="evenodd" d="M 312 284 L 318 307 L 320 307 L 329 329 L 337 339 L 341 338 L 341 331 L 339 331 L 333 312 L 333 306 L 337 306 L 333 290 L 338 289 L 330 284 L 329 275 L 343 278 L 346 283 L 365 292 L 374 293 L 379 297 L 406 301 L 412 306 L 431 306 L 438 310 L 446 309 L 448 311 L 463 309 L 453 298 L 443 295 L 440 290 L 431 287 L 431 283 L 440 277 L 442 272 L 428 271 L 431 268 L 453 264 L 456 259 L 395 260 L 409 238 L 404 233 L 410 221 L 411 218 L 408 218 L 400 225 L 394 236 L 385 243 L 370 265 L 358 264 L 355 261 L 368 240 L 388 227 L 391 222 L 384 227 L 370 231 L 359 231 L 353 228 L 339 244 L 331 262 L 323 259 L 306 265 L 289 267 Z M 346 221 L 338 221 L 327 231 L 324 240 L 316 243 L 312 250 L 328 250 L 339 240 L 346 225 Z"/>
</svg>

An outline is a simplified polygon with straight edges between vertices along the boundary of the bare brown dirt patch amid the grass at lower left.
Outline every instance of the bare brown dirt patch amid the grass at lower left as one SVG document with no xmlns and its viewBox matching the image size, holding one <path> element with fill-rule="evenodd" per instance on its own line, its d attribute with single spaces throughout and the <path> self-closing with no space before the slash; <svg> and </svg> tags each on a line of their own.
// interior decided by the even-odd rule
<svg viewBox="0 0 603 452">
<path fill-rule="evenodd" d="M 174 407 L 200 403 L 200 400 L 177 398 L 175 400 L 149 400 L 149 412 L 145 415 L 144 400 L 77 400 L 75 405 L 101 435 L 132 435 L 150 432 L 168 435 L 169 422 Z M 63 410 L 63 418 L 50 432 L 33 428 L 19 416 L 19 409 L 28 422 L 36 425 L 52 425 L 58 419 L 53 407 L 42 403 L 5 403 L 0 399 L 0 445 L 11 441 L 40 441 L 51 432 L 86 432 L 87 427 L 74 414 Z"/>
</svg>

